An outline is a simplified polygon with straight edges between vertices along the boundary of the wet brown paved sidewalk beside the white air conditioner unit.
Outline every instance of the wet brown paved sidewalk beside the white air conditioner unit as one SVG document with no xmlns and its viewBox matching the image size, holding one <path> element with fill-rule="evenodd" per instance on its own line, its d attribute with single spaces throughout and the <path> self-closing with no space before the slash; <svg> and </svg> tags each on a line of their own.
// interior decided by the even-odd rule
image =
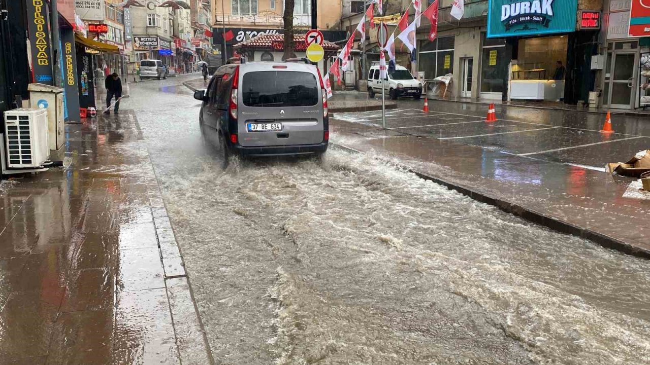
<svg viewBox="0 0 650 365">
<path fill-rule="evenodd" d="M 66 141 L 64 168 L 0 182 L 0 364 L 210 364 L 135 115 Z"/>
</svg>

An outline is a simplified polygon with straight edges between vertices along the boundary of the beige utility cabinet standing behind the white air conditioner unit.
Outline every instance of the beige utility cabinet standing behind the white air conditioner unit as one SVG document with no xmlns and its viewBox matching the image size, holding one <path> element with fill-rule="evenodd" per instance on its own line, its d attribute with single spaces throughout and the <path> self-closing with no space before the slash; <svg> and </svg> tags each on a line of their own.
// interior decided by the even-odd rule
<svg viewBox="0 0 650 365">
<path fill-rule="evenodd" d="M 63 89 L 46 84 L 29 84 L 27 90 L 31 107 L 47 110 L 49 149 L 59 149 L 65 142 Z"/>
</svg>

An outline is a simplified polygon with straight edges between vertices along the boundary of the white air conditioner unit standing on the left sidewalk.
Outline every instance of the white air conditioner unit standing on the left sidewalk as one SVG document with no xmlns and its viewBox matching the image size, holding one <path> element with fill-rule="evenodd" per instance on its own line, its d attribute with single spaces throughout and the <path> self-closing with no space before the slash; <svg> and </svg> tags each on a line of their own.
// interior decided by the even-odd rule
<svg viewBox="0 0 650 365">
<path fill-rule="evenodd" d="M 49 158 L 47 110 L 18 108 L 5 112 L 8 168 L 38 168 Z"/>
</svg>

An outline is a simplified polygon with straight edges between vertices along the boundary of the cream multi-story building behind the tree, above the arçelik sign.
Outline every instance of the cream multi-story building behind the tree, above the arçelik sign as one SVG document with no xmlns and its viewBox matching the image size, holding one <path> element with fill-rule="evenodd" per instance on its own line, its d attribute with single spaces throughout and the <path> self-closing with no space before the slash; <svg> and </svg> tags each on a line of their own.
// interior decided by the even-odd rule
<svg viewBox="0 0 650 365">
<path fill-rule="evenodd" d="M 260 33 L 282 34 L 283 0 L 213 0 L 214 47 L 233 55 L 232 46 Z M 296 32 L 311 28 L 311 0 L 296 0 L 293 25 Z M 341 0 L 318 1 L 318 29 L 325 39 L 339 40 L 341 32 L 329 32 L 339 24 Z"/>
</svg>

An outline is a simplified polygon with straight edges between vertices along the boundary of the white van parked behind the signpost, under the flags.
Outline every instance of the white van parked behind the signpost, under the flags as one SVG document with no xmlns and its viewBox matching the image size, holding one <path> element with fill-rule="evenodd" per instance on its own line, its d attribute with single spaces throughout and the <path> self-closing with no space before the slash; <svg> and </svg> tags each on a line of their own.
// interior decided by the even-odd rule
<svg viewBox="0 0 650 365">
<path fill-rule="evenodd" d="M 382 79 L 379 77 L 379 72 L 379 66 L 372 66 L 368 71 L 370 97 L 382 92 Z M 417 81 L 403 66 L 395 66 L 395 70 L 389 72 L 388 78 L 383 81 L 383 88 L 393 100 L 400 96 L 413 97 L 416 100 L 422 97 L 422 82 Z"/>
</svg>

